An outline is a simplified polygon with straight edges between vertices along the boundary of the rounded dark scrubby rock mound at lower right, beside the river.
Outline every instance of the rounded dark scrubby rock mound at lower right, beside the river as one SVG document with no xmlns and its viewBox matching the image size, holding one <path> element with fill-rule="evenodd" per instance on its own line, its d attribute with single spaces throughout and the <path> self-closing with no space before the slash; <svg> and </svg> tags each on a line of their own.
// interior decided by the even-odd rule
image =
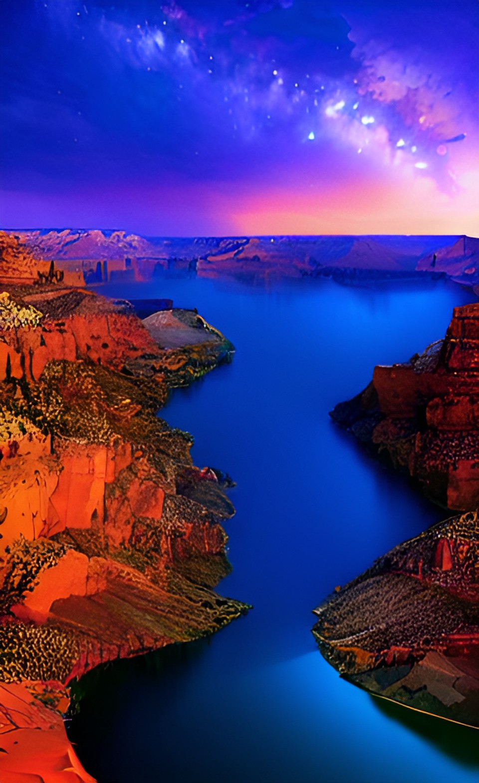
<svg viewBox="0 0 479 783">
<path fill-rule="evenodd" d="M 315 609 L 322 655 L 352 683 L 479 727 L 479 518 L 400 544 Z"/>
</svg>

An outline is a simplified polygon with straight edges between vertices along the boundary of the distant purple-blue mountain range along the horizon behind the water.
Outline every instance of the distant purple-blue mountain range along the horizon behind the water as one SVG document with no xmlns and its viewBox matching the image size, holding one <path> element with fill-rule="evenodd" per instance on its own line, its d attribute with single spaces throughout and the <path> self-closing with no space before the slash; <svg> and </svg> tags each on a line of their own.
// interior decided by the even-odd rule
<svg viewBox="0 0 479 783">
<path fill-rule="evenodd" d="M 77 269 L 93 283 L 167 272 L 198 276 L 375 277 L 445 275 L 479 285 L 479 240 L 469 236 L 143 237 L 118 230 L 9 232 L 34 258 Z"/>
</svg>

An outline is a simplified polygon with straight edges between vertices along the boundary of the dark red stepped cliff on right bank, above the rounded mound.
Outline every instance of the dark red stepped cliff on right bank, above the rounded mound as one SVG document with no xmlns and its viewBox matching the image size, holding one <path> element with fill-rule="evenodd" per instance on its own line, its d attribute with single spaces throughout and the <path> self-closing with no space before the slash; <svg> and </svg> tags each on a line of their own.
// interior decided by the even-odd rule
<svg viewBox="0 0 479 783">
<path fill-rule="evenodd" d="M 371 453 L 409 472 L 443 507 L 479 506 L 479 304 L 454 310 L 445 339 L 330 414 Z"/>
</svg>

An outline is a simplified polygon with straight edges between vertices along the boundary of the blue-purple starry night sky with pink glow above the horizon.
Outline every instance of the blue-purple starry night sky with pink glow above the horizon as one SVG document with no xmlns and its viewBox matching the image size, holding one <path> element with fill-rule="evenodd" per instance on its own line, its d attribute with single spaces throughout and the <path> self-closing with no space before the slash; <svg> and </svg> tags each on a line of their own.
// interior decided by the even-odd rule
<svg viewBox="0 0 479 783">
<path fill-rule="evenodd" d="M 0 225 L 479 233 L 477 0 L 2 0 Z"/>
</svg>

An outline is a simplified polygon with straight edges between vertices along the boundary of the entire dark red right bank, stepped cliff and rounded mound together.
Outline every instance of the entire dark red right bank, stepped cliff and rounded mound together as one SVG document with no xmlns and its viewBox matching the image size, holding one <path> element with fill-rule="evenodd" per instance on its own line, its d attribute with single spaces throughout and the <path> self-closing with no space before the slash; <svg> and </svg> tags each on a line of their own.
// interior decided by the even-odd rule
<svg viewBox="0 0 479 783">
<path fill-rule="evenodd" d="M 444 340 L 331 413 L 370 453 L 464 511 L 395 547 L 315 609 L 319 649 L 367 691 L 479 727 L 479 304 Z"/>
</svg>

